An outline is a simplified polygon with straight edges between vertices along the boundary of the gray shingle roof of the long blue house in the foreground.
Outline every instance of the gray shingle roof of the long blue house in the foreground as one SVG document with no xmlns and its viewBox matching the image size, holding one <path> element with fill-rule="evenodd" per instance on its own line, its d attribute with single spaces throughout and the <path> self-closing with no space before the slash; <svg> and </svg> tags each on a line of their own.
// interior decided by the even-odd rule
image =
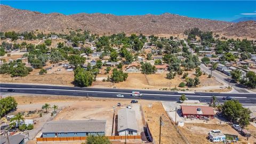
<svg viewBox="0 0 256 144">
<path fill-rule="evenodd" d="M 105 132 L 106 120 L 50 121 L 44 124 L 42 133 L 50 132 Z"/>
</svg>

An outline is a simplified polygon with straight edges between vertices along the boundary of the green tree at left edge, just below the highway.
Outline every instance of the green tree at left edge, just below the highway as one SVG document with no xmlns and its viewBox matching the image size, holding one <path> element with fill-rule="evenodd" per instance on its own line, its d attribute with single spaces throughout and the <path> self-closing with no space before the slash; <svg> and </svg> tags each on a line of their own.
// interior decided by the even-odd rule
<svg viewBox="0 0 256 144">
<path fill-rule="evenodd" d="M 18 103 L 13 97 L 6 97 L 0 99 L 0 116 L 4 116 L 10 111 L 17 108 Z"/>
</svg>

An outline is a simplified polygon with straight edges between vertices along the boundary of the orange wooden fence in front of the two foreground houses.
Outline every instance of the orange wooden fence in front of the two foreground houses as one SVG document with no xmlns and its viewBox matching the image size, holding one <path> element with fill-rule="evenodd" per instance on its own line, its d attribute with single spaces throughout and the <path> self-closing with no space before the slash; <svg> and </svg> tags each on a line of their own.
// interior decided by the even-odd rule
<svg viewBox="0 0 256 144">
<path fill-rule="evenodd" d="M 125 136 L 106 136 L 109 140 L 125 140 Z M 127 140 L 141 139 L 141 135 L 126 135 Z M 36 141 L 85 141 L 86 137 L 36 138 Z"/>
</svg>

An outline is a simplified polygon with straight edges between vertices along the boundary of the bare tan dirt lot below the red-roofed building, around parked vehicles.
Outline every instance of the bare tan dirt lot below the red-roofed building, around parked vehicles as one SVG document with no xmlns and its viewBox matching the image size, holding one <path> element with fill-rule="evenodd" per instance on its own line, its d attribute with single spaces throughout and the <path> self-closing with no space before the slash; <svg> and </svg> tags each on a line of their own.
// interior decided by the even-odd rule
<svg viewBox="0 0 256 144">
<path fill-rule="evenodd" d="M 180 130 L 185 135 L 185 137 L 189 140 L 191 143 L 211 143 L 207 139 L 208 133 L 211 130 L 221 130 L 222 133 L 228 133 L 228 134 L 235 134 L 238 135 L 239 141 L 237 143 L 244 143 L 244 142 L 250 142 L 253 143 L 256 141 L 254 137 L 250 137 L 249 141 L 246 141 L 246 138 L 240 135 L 236 130 L 234 130 L 230 125 L 228 124 L 185 124 L 184 127 L 180 127 Z M 251 127 L 250 129 L 255 130 L 255 127 Z"/>
</svg>

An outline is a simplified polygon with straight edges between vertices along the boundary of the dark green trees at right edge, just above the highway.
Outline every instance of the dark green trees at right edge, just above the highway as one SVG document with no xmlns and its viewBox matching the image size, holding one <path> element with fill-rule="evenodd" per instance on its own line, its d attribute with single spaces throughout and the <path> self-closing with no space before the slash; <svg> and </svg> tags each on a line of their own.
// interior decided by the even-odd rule
<svg viewBox="0 0 256 144">
<path fill-rule="evenodd" d="M 231 71 L 231 78 L 247 87 L 254 89 L 256 87 L 256 74 L 254 71 L 248 71 L 243 77 L 239 69 Z"/>
</svg>

